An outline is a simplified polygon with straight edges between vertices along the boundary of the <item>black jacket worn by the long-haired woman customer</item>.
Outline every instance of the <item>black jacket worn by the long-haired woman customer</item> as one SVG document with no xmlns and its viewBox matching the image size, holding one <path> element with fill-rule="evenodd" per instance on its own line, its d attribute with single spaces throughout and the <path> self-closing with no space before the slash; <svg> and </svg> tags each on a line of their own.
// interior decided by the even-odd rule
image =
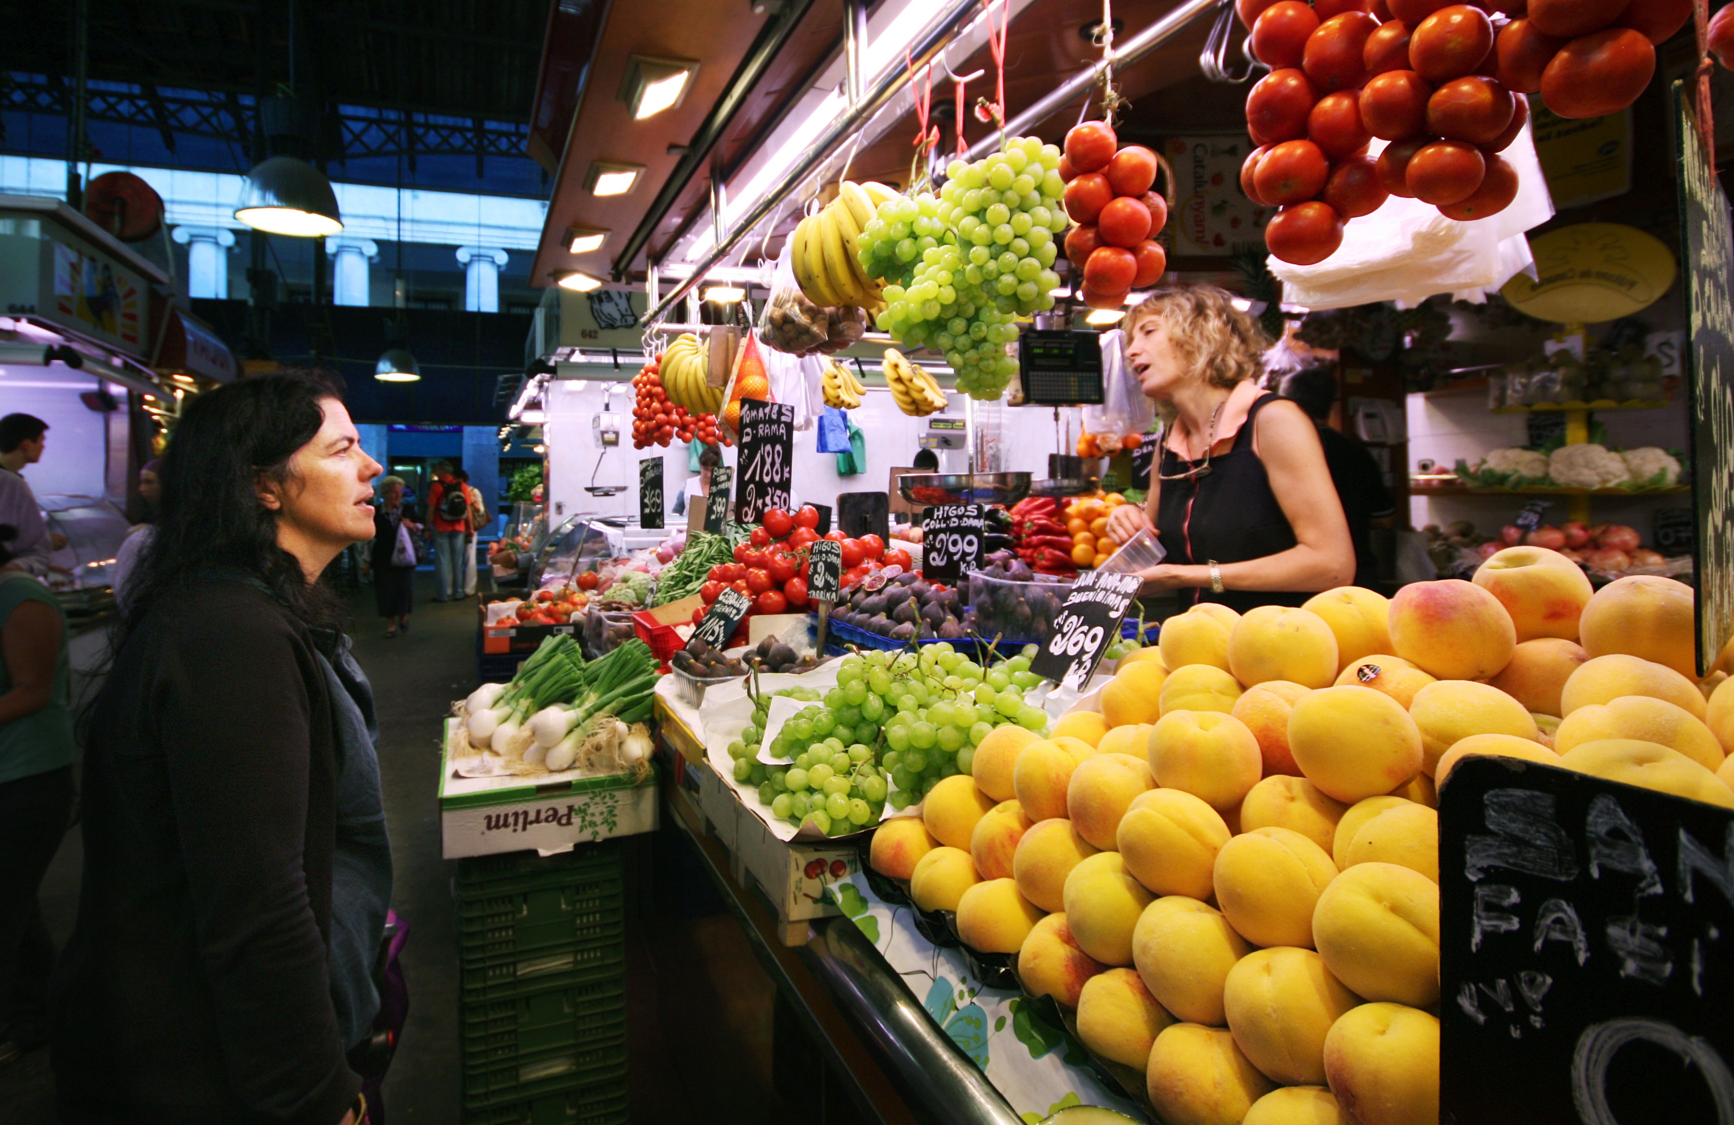
<svg viewBox="0 0 1734 1125">
<path fill-rule="evenodd" d="M 87 742 L 61 1120 L 336 1125 L 361 1080 L 326 971 L 335 754 L 309 631 L 241 581 L 168 595 Z"/>
</svg>

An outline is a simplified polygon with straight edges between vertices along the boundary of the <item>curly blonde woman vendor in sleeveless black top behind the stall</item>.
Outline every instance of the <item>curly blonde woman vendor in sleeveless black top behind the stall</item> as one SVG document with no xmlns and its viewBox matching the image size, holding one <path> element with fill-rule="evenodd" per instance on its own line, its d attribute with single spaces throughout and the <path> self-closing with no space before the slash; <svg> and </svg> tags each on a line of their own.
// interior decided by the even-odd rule
<svg viewBox="0 0 1734 1125">
<path fill-rule="evenodd" d="M 1354 544 L 1318 430 L 1257 385 L 1269 340 L 1214 286 L 1151 295 L 1125 315 L 1125 362 L 1167 423 L 1150 501 L 1108 534 L 1155 525 L 1167 558 L 1144 591 L 1235 610 L 1300 605 L 1354 577 Z"/>
</svg>

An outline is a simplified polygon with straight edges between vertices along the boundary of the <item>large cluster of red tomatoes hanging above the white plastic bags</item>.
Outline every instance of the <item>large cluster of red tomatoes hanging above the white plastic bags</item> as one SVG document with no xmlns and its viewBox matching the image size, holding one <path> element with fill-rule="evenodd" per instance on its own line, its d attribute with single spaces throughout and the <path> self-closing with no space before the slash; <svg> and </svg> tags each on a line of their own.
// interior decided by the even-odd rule
<svg viewBox="0 0 1734 1125">
<path fill-rule="evenodd" d="M 1259 147 L 1240 185 L 1280 208 L 1269 251 L 1313 265 L 1389 196 L 1458 222 L 1503 211 L 1517 172 L 1500 153 L 1529 120 L 1524 95 L 1569 118 L 1630 106 L 1691 0 L 1236 0 L 1236 12 L 1271 68 L 1247 95 Z M 1389 142 L 1377 159 L 1373 137 Z"/>
</svg>

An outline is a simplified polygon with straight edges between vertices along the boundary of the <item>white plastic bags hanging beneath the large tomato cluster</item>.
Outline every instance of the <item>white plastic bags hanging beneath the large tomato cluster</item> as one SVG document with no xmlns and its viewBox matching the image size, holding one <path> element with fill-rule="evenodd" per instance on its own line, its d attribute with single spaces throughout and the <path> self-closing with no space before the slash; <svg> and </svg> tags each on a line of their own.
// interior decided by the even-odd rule
<svg viewBox="0 0 1734 1125">
<path fill-rule="evenodd" d="M 1373 142 L 1368 156 L 1384 149 Z M 1542 163 L 1526 125 L 1502 156 L 1517 170 L 1517 198 L 1498 215 L 1457 222 L 1420 199 L 1392 196 L 1344 229 L 1342 246 L 1318 265 L 1269 258 L 1283 283 L 1283 302 L 1307 309 L 1349 309 L 1394 300 L 1418 305 L 1436 293 L 1483 303 L 1521 272 L 1535 274 L 1524 231 L 1554 217 Z"/>
</svg>

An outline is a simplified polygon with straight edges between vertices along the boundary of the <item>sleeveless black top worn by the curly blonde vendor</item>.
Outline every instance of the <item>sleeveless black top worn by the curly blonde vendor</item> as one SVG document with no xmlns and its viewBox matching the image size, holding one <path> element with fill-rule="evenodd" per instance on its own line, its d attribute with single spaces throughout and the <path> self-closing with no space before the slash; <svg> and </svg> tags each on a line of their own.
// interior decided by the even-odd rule
<svg viewBox="0 0 1734 1125">
<path fill-rule="evenodd" d="M 1276 395 L 1259 395 L 1247 413 L 1247 423 L 1235 435 L 1235 445 L 1210 458 L 1210 471 L 1193 480 L 1164 480 L 1162 501 L 1157 508 L 1157 530 L 1162 546 L 1176 565 L 1203 565 L 1212 558 L 1219 563 L 1264 558 L 1295 546 L 1294 527 L 1283 515 L 1264 461 L 1252 451 L 1254 425 L 1259 411 L 1276 400 Z M 1165 444 L 1160 471 L 1164 477 L 1184 473 L 1203 461 L 1186 461 Z M 1261 605 L 1300 605 L 1311 593 L 1273 589 L 1228 589 L 1214 593 L 1209 586 L 1191 591 L 1191 602 L 1221 602 L 1245 614 Z M 1186 591 L 1181 591 L 1186 602 Z"/>
</svg>

